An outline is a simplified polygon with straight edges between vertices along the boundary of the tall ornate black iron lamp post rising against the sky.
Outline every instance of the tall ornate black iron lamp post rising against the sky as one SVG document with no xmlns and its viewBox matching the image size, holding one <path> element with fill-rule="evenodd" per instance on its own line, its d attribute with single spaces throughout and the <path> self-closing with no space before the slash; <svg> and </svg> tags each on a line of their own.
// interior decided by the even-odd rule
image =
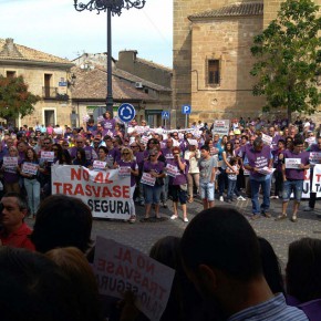
<svg viewBox="0 0 321 321">
<path fill-rule="evenodd" d="M 142 9 L 145 0 L 91 0 L 86 4 L 74 0 L 76 11 L 101 11 L 107 12 L 107 96 L 106 111 L 113 115 L 113 86 L 112 86 L 112 15 L 121 15 L 123 9 Z"/>
</svg>

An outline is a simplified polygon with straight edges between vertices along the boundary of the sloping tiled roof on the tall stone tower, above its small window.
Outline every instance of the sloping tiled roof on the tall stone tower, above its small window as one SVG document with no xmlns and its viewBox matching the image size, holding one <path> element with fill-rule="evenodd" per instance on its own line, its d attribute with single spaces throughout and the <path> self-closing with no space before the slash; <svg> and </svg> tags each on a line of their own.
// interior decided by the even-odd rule
<svg viewBox="0 0 321 321">
<path fill-rule="evenodd" d="M 201 18 L 244 17 L 263 14 L 263 2 L 236 2 L 216 10 L 189 15 L 189 20 Z"/>
</svg>

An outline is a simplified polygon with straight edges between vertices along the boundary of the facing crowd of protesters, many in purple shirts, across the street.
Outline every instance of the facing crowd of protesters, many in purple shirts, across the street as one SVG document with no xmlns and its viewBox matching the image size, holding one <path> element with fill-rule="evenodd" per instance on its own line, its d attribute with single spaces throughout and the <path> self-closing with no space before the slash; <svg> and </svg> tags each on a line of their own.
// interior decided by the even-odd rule
<svg viewBox="0 0 321 321">
<path fill-rule="evenodd" d="M 40 200 L 51 195 L 51 166 L 60 164 L 96 170 L 128 168 L 130 222 L 136 221 L 137 205 L 145 206 L 145 220 L 152 210 L 156 219 L 162 218 L 161 208 L 167 207 L 168 199 L 173 200 L 170 218 L 177 219 L 182 208 L 182 219 L 188 222 L 187 207 L 195 197 L 201 198 L 204 209 L 213 207 L 216 199 L 232 203 L 248 197 L 253 219 L 270 217 L 270 199 L 280 198 L 282 213 L 276 219 L 282 220 L 292 191 L 290 219 L 296 222 L 304 173 L 310 169 L 312 177 L 313 166 L 321 161 L 320 128 L 300 117 L 293 123 L 240 117 L 230 120 L 226 135 L 200 121 L 190 128 L 165 131 L 133 120 L 125 131 L 106 112 L 96 122 L 85 118 L 80 128 L 39 124 L 19 131 L 2 128 L 0 179 L 6 193 L 28 196 L 30 217 L 34 217 Z M 304 210 L 313 210 L 315 198 L 311 193 Z"/>
</svg>

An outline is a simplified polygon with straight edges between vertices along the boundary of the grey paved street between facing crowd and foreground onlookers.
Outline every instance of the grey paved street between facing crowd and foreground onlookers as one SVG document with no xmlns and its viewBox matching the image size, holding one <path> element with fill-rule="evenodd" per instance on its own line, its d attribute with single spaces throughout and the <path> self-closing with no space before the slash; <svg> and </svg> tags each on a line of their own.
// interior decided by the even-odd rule
<svg viewBox="0 0 321 321">
<path fill-rule="evenodd" d="M 216 205 L 229 206 L 227 203 L 216 200 Z M 300 208 L 307 205 L 307 201 L 302 201 Z M 251 201 L 234 201 L 232 206 L 236 206 L 247 217 L 251 214 Z M 321 214 L 317 201 L 317 210 L 314 213 L 299 211 L 298 222 L 291 222 L 289 219 L 283 221 L 275 221 L 273 218 L 261 217 L 255 221 L 250 220 L 255 230 L 259 236 L 267 238 L 273 246 L 277 255 L 282 263 L 287 262 L 288 245 L 302 237 L 321 237 L 321 219 L 317 218 L 317 214 Z M 193 204 L 187 204 L 188 218 L 191 219 L 197 213 L 201 210 L 200 200 L 195 200 Z M 290 217 L 292 208 L 292 201 L 289 205 L 288 216 Z M 271 215 L 276 217 L 281 211 L 281 200 L 271 199 Z M 159 238 L 173 235 L 180 236 L 186 227 L 186 222 L 182 218 L 170 220 L 172 215 L 172 201 L 168 201 L 168 209 L 161 208 L 163 221 L 139 221 L 144 217 L 144 207 L 137 206 L 137 221 L 135 224 L 128 224 L 117 220 L 100 220 L 95 219 L 93 226 L 93 238 L 96 235 L 112 238 L 116 241 L 130 245 L 134 248 L 148 252 L 152 245 Z M 153 213 L 152 213 L 153 215 Z M 151 215 L 151 216 L 152 216 Z"/>
</svg>

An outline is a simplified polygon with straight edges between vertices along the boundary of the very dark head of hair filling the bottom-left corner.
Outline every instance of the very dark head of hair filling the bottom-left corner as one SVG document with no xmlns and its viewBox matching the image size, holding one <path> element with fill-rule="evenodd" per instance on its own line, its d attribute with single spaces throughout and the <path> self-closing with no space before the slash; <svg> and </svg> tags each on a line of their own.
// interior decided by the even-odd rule
<svg viewBox="0 0 321 321">
<path fill-rule="evenodd" d="M 41 253 L 0 247 L 1 320 L 80 320 L 73 284 Z"/>
</svg>

